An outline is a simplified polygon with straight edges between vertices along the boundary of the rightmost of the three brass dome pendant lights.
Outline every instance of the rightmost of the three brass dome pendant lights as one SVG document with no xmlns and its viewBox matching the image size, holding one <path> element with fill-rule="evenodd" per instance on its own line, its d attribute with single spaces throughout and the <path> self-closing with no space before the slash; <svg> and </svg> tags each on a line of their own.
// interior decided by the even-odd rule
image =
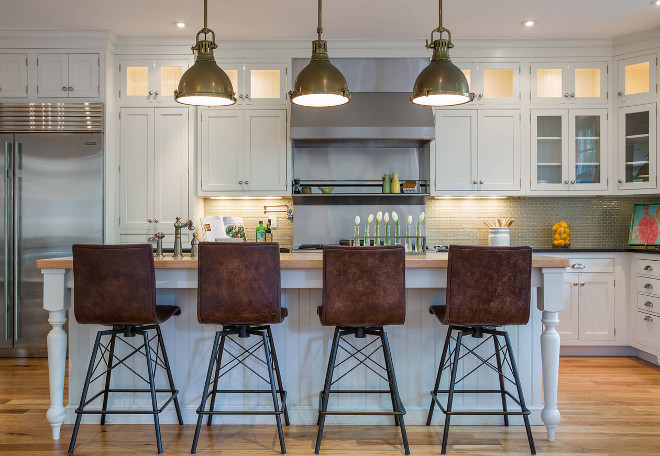
<svg viewBox="0 0 660 456">
<path fill-rule="evenodd" d="M 424 106 L 454 106 L 472 101 L 474 94 L 470 93 L 470 86 L 463 72 L 449 59 L 451 32 L 442 26 L 442 0 L 440 6 L 440 26 L 431 32 L 431 43 L 426 42 L 427 49 L 433 49 L 431 63 L 424 68 L 413 87 L 410 101 Z M 438 39 L 433 34 L 438 32 Z M 442 33 L 447 32 L 447 39 Z"/>
</svg>

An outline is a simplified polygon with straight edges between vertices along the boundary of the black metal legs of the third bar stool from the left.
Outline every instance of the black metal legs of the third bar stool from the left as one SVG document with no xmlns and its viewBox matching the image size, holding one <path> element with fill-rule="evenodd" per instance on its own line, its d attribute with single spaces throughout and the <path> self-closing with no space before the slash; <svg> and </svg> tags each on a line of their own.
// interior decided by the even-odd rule
<svg viewBox="0 0 660 456">
<path fill-rule="evenodd" d="M 353 335 L 357 338 L 364 338 L 366 335 L 376 336 L 374 340 L 367 343 L 362 348 L 357 348 L 355 345 L 351 344 L 344 337 Z M 351 349 L 347 349 L 344 345 L 341 345 L 341 342 L 344 342 L 345 345 L 348 345 Z M 375 350 L 365 352 L 368 347 L 370 347 L 374 342 L 380 341 L 380 346 L 376 346 Z M 348 357 L 337 363 L 337 353 L 339 349 L 344 350 L 348 353 Z M 383 357 L 385 359 L 385 367 L 378 364 L 374 361 L 371 356 L 373 356 L 379 349 L 383 351 Z M 349 368 L 348 372 L 342 374 L 333 381 L 333 375 L 335 368 L 343 364 L 348 359 L 354 358 L 357 361 L 357 365 Z M 367 362 L 371 362 L 369 365 Z M 349 372 L 355 369 L 357 366 L 363 365 L 367 367 L 370 371 L 374 372 L 376 375 L 381 377 L 383 380 L 387 381 L 388 389 L 379 390 L 341 390 L 341 389 L 332 389 L 332 385 L 346 376 Z M 387 377 L 382 375 L 374 367 L 378 367 L 386 372 Z M 392 398 L 392 411 L 378 411 L 378 412 L 358 412 L 355 410 L 347 411 L 329 411 L 328 410 L 328 401 L 330 399 L 330 393 L 362 393 L 362 394 L 389 394 Z M 394 374 L 394 365 L 392 363 L 392 354 L 390 353 L 389 343 L 387 341 L 387 334 L 382 327 L 372 327 L 372 328 L 354 328 L 354 327 L 336 327 L 335 335 L 332 339 L 332 349 L 330 351 L 330 356 L 328 360 L 328 370 L 325 375 L 325 384 L 323 386 L 323 391 L 319 393 L 319 418 L 318 418 L 318 433 L 316 436 L 316 445 L 314 448 L 314 453 L 319 454 L 321 449 L 321 440 L 323 438 L 323 427 L 325 425 L 325 418 L 327 415 L 392 415 L 395 418 L 395 424 L 399 425 L 401 428 L 401 438 L 403 440 L 403 447 L 406 454 L 410 454 L 410 449 L 408 447 L 408 437 L 406 435 L 406 426 L 403 421 L 403 415 L 406 414 L 406 410 L 403 407 L 401 397 L 399 396 L 399 389 L 396 383 L 396 376 Z"/>
</svg>

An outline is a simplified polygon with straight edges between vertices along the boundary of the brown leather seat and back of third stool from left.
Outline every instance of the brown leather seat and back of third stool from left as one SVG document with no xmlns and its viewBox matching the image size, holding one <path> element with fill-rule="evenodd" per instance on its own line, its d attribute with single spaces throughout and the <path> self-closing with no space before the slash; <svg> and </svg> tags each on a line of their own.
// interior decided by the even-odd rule
<svg viewBox="0 0 660 456">
<path fill-rule="evenodd" d="M 403 246 L 323 248 L 324 326 L 402 325 L 406 319 Z"/>
</svg>

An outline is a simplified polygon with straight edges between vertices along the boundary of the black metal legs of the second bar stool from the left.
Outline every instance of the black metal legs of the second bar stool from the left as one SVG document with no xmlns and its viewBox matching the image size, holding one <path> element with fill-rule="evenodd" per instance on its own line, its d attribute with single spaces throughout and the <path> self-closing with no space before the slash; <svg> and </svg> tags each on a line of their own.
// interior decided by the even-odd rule
<svg viewBox="0 0 660 456">
<path fill-rule="evenodd" d="M 232 339 L 231 336 L 238 336 L 239 338 L 249 338 L 250 336 L 257 336 L 259 341 L 248 346 L 243 347 L 237 341 Z M 233 343 L 241 350 L 238 355 L 234 355 L 227 349 L 227 342 Z M 260 348 L 264 349 L 265 359 L 259 358 L 255 352 Z M 223 353 L 226 352 L 231 359 L 222 364 Z M 268 371 L 267 378 L 262 376 L 258 370 L 253 369 L 251 366 L 245 364 L 248 359 L 255 359 L 258 363 L 265 365 Z M 235 367 L 242 365 L 248 370 L 252 371 L 256 376 L 260 377 L 268 383 L 268 389 L 218 389 L 220 378 L 228 374 Z M 215 369 L 215 371 L 214 371 Z M 210 389 L 210 391 L 209 391 Z M 245 394 L 245 393 L 269 393 L 273 398 L 273 411 L 253 411 L 253 410 L 215 410 L 216 396 L 219 393 L 228 394 Z M 282 401 L 281 407 L 278 401 L 278 395 Z M 206 402 L 211 397 L 210 408 L 206 410 Z M 277 422 L 277 433 L 280 441 L 280 451 L 286 454 L 284 445 L 284 432 L 282 430 L 281 416 L 284 414 L 286 424 L 289 424 L 288 412 L 286 409 L 286 391 L 282 387 L 282 376 L 280 373 L 279 364 L 277 362 L 277 355 L 275 354 L 275 344 L 273 342 L 270 326 L 250 326 L 250 325 L 228 325 L 224 326 L 221 331 L 217 331 L 215 335 L 215 342 L 213 343 L 213 351 L 209 361 L 209 368 L 206 373 L 206 381 L 204 382 L 204 389 L 202 392 L 202 400 L 199 408 L 197 409 L 197 427 L 195 428 L 195 436 L 193 438 L 192 449 L 190 452 L 195 454 L 197 451 L 197 442 L 202 426 L 204 415 L 208 415 L 207 425 L 212 423 L 214 415 L 274 415 Z"/>
</svg>

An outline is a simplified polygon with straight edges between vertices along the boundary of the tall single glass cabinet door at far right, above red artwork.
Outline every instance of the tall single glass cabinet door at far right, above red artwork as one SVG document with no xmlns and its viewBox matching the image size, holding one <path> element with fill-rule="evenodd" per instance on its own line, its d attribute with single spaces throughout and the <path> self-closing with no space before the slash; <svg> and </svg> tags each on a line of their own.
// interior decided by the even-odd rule
<svg viewBox="0 0 660 456">
<path fill-rule="evenodd" d="M 620 189 L 656 188 L 656 105 L 619 108 Z"/>
</svg>

